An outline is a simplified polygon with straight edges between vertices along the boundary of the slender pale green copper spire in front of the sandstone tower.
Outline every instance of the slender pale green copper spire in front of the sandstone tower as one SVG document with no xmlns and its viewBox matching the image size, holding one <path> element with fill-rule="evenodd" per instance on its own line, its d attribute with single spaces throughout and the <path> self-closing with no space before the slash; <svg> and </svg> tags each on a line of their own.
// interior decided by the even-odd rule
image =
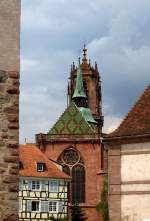
<svg viewBox="0 0 150 221">
<path fill-rule="evenodd" d="M 75 91 L 73 93 L 72 98 L 78 98 L 78 97 L 84 97 L 87 98 L 85 92 L 84 92 L 84 86 L 83 86 L 83 79 L 82 79 L 82 71 L 81 67 L 79 65 L 77 70 L 77 77 L 76 77 L 76 87 Z"/>
</svg>

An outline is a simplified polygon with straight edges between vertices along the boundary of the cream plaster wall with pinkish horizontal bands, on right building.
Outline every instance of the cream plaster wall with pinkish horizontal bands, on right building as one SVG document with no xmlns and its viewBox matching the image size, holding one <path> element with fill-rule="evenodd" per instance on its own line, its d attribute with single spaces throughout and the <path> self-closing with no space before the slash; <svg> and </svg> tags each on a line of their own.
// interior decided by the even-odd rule
<svg viewBox="0 0 150 221">
<path fill-rule="evenodd" d="M 147 153 L 144 153 L 145 151 Z M 121 146 L 121 181 L 133 182 L 133 184 L 121 185 L 121 221 L 145 221 L 150 219 L 150 194 L 147 192 L 150 191 L 150 183 L 148 182 L 150 181 L 149 151 L 150 143 L 148 142 Z M 126 155 L 127 152 L 129 154 Z M 140 181 L 140 183 L 137 184 L 134 181 Z M 148 183 L 144 183 L 144 181 Z M 145 193 L 137 194 L 134 191 L 145 191 Z M 128 194 L 123 192 L 128 192 Z"/>
</svg>

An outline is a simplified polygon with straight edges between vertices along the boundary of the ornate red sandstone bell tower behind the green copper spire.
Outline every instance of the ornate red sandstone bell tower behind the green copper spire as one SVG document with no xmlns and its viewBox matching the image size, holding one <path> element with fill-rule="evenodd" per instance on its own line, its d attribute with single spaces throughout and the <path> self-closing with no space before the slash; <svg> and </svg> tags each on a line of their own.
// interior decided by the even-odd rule
<svg viewBox="0 0 150 221">
<path fill-rule="evenodd" d="M 83 48 L 83 57 L 80 63 L 79 58 L 79 66 L 82 71 L 83 78 L 83 87 L 84 92 L 87 97 L 87 107 L 91 110 L 92 115 L 94 116 L 95 121 L 98 124 L 98 131 L 101 133 L 103 126 L 103 116 L 102 116 L 102 96 L 101 96 L 101 79 L 98 71 L 97 63 L 95 62 L 95 66 L 91 65 L 90 60 L 87 59 L 87 49 L 84 45 Z M 78 68 L 73 62 L 71 65 L 70 71 L 70 81 L 68 83 L 68 101 L 69 104 L 72 100 L 74 100 L 74 92 L 77 91 L 78 81 Z"/>
</svg>

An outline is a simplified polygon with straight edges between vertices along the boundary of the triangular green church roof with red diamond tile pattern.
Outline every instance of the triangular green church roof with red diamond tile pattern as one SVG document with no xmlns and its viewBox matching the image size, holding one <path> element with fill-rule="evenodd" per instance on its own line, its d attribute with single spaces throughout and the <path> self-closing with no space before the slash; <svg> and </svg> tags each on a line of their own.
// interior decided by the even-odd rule
<svg viewBox="0 0 150 221">
<path fill-rule="evenodd" d="M 59 120 L 50 129 L 48 135 L 89 135 L 95 134 L 94 129 L 83 117 L 80 110 L 77 108 L 74 102 L 60 116 Z"/>
</svg>

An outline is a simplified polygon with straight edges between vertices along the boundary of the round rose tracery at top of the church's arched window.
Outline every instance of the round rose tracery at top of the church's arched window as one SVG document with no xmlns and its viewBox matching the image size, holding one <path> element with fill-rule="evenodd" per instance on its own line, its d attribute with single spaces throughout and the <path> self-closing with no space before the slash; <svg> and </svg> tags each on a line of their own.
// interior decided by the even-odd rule
<svg viewBox="0 0 150 221">
<path fill-rule="evenodd" d="M 68 149 L 63 154 L 63 161 L 68 165 L 73 165 L 79 161 L 79 155 L 75 150 Z"/>
</svg>

